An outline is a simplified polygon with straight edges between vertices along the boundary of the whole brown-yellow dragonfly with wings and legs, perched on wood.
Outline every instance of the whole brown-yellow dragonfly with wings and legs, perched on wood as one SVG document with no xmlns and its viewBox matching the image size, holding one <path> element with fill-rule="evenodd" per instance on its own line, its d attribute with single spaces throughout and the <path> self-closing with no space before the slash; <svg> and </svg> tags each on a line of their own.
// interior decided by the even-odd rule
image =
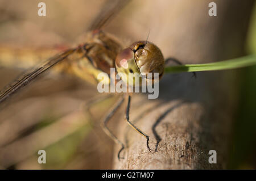
<svg viewBox="0 0 256 181">
<path fill-rule="evenodd" d="M 160 49 L 147 39 L 144 41 L 136 41 L 131 44 L 128 48 L 123 47 L 122 43 L 119 42 L 113 35 L 104 31 L 104 27 L 113 19 L 119 11 L 124 9 L 130 3 L 129 0 L 118 1 L 111 8 L 105 10 L 102 9 L 100 14 L 98 14 L 88 29 L 88 40 L 78 45 L 75 48 L 69 48 L 63 52 L 56 54 L 35 66 L 32 70 L 29 70 L 17 78 L 10 86 L 7 86 L 1 91 L 0 94 L 0 104 L 7 102 L 11 96 L 16 94 L 23 89 L 23 87 L 34 81 L 39 75 L 47 73 L 49 69 L 57 69 L 58 71 L 64 71 L 76 77 L 81 78 L 84 81 L 90 82 L 93 85 L 97 85 L 97 76 L 99 73 L 107 73 L 107 79 L 110 81 L 110 68 L 117 68 L 115 74 L 119 72 L 128 74 L 129 72 L 145 74 L 148 73 L 159 73 L 159 78 L 162 78 L 164 72 L 164 66 L 169 61 L 175 61 L 180 64 L 179 61 L 167 58 L 164 60 L 163 54 Z M 104 7 L 109 6 L 109 2 L 106 1 Z M 1 54 L 0 54 L 1 56 Z M 2 59 L 5 56 L 2 54 Z M 122 61 L 127 61 L 127 67 L 122 66 Z M 154 77 L 153 77 L 154 78 Z M 149 137 L 146 133 L 142 131 L 141 128 L 136 127 L 129 118 L 130 106 L 131 106 L 131 94 L 124 94 L 115 104 L 115 106 L 110 110 L 108 115 L 102 121 L 102 128 L 106 134 L 116 144 L 121 146 L 118 151 L 118 159 L 121 157 L 121 152 L 125 149 L 125 144 L 116 137 L 113 132 L 108 128 L 109 120 L 114 115 L 114 112 L 118 110 L 119 107 L 127 99 L 127 106 L 125 112 L 125 121 L 130 125 L 135 131 L 146 138 L 147 149 L 152 152 L 155 149 L 151 149 L 148 145 Z M 90 102 L 90 104 L 93 104 Z"/>
</svg>

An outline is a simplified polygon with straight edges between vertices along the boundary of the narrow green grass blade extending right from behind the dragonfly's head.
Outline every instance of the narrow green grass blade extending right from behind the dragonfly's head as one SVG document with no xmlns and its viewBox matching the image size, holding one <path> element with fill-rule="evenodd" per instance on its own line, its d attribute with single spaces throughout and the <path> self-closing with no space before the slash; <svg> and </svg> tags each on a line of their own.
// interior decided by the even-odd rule
<svg viewBox="0 0 256 181">
<path fill-rule="evenodd" d="M 226 70 L 237 69 L 246 66 L 256 65 L 256 55 L 249 55 L 232 60 L 225 60 L 220 62 L 213 62 L 209 64 L 185 64 L 178 66 L 168 66 L 164 69 L 165 73 L 179 73 L 189 71 L 211 71 L 211 70 Z"/>
</svg>

